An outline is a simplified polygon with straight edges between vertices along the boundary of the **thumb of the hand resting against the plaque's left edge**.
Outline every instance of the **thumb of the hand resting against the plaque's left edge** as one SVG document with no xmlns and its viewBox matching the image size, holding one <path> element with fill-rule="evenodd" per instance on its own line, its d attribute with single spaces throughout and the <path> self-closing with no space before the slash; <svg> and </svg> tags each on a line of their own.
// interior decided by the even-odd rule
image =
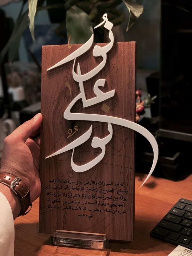
<svg viewBox="0 0 192 256">
<path fill-rule="evenodd" d="M 13 133 L 11 133 L 11 136 L 17 139 L 21 139 L 25 142 L 30 137 L 30 135 L 40 127 L 42 118 L 42 114 L 38 113 L 32 119 L 15 129 Z"/>
</svg>

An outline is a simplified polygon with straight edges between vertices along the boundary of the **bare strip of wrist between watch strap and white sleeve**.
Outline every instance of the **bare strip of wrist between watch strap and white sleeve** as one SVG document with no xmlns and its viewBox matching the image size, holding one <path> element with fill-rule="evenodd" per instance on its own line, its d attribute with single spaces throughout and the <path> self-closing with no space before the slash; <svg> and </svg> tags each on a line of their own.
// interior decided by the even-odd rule
<svg viewBox="0 0 192 256">
<path fill-rule="evenodd" d="M 21 212 L 21 203 L 19 202 L 19 198 L 11 192 L 9 187 L 2 183 L 0 183 L 0 192 L 7 198 L 7 201 L 11 206 L 13 218 L 15 219 Z"/>
</svg>

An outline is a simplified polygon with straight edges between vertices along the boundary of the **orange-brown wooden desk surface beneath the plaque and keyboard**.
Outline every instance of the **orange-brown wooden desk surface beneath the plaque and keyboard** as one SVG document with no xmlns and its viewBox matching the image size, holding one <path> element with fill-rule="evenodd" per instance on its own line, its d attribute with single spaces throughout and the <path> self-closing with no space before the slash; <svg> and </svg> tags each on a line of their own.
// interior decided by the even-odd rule
<svg viewBox="0 0 192 256">
<path fill-rule="evenodd" d="M 174 245 L 151 238 L 149 233 L 179 198 L 192 200 L 192 174 L 183 181 L 150 177 L 139 188 L 146 175 L 135 177 L 135 239 L 133 242 L 107 244 L 105 250 L 77 249 L 52 245 L 50 236 L 38 233 L 39 200 L 26 216 L 15 220 L 15 256 L 166 256 Z M 126 225 L 126 223 L 125 223 Z"/>
</svg>

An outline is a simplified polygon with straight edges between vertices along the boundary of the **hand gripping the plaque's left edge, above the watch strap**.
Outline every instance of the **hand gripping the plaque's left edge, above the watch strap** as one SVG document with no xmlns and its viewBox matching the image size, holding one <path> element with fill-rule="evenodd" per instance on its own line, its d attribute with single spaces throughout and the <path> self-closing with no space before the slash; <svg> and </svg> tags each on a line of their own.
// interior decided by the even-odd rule
<svg viewBox="0 0 192 256">
<path fill-rule="evenodd" d="M 42 115 L 39 113 L 23 123 L 5 138 L 1 173 L 20 177 L 30 190 L 31 202 L 41 193 L 39 179 L 40 138 L 32 139 L 39 132 Z"/>
</svg>

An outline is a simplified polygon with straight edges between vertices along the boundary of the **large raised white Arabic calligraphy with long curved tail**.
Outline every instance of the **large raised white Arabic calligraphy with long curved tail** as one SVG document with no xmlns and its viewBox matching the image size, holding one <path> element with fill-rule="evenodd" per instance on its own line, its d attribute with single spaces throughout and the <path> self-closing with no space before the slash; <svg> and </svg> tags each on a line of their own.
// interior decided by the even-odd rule
<svg viewBox="0 0 192 256">
<path fill-rule="evenodd" d="M 156 142 L 155 138 L 153 137 L 153 135 L 147 129 L 145 129 L 141 125 L 138 125 L 137 123 L 131 122 L 129 120 L 125 120 L 123 118 L 106 116 L 106 115 L 98 115 L 98 114 L 83 114 L 83 113 L 71 113 L 70 112 L 73 105 L 79 99 L 82 99 L 83 107 L 85 108 L 85 107 L 97 104 L 99 102 L 105 101 L 106 99 L 109 99 L 109 98 L 113 97 L 114 94 L 115 94 L 115 90 L 103 93 L 98 88 L 99 86 L 102 86 L 102 87 L 104 86 L 105 81 L 106 81 L 105 79 L 98 79 L 95 82 L 93 90 L 94 90 L 94 93 L 95 93 L 96 97 L 91 98 L 91 99 L 86 99 L 84 86 L 83 86 L 84 81 L 87 81 L 88 79 L 94 77 L 99 71 L 101 71 L 103 69 L 103 67 L 105 66 L 106 61 L 107 61 L 107 52 L 109 52 L 111 50 L 112 46 L 113 46 L 114 37 L 113 37 L 113 33 L 111 31 L 111 29 L 113 27 L 113 23 L 108 21 L 107 14 L 103 15 L 103 22 L 101 22 L 96 27 L 101 26 L 103 23 L 105 23 L 104 27 L 109 30 L 109 39 L 111 41 L 104 47 L 101 47 L 101 46 L 98 46 L 98 45 L 94 46 L 93 56 L 94 57 L 102 56 L 102 58 L 103 58 L 103 61 L 101 63 L 99 63 L 99 65 L 97 67 L 95 67 L 94 69 L 92 69 L 88 73 L 82 75 L 81 74 L 81 68 L 80 68 L 80 65 L 78 63 L 77 64 L 77 74 L 75 73 L 75 70 L 74 70 L 76 58 L 81 56 L 87 50 L 89 50 L 90 47 L 93 44 L 93 35 L 91 35 L 90 39 L 85 44 L 83 44 L 81 47 L 79 47 L 73 53 L 68 55 L 66 58 L 64 58 L 61 61 L 59 61 L 58 63 L 56 63 L 54 66 L 47 69 L 47 71 L 49 71 L 49 70 L 51 70 L 55 67 L 63 65 L 66 62 L 69 62 L 69 61 L 74 59 L 73 79 L 79 83 L 80 93 L 67 106 L 63 116 L 67 120 L 98 121 L 98 122 L 108 123 L 109 135 L 107 135 L 103 139 L 100 139 L 98 137 L 94 137 L 92 139 L 92 142 L 91 142 L 92 147 L 94 147 L 94 148 L 100 147 L 102 152 L 96 158 L 94 158 L 89 163 L 86 163 L 84 165 L 79 166 L 79 165 L 76 165 L 73 162 L 73 154 L 74 154 L 75 147 L 80 146 L 81 144 L 86 142 L 91 136 L 92 129 L 93 129 L 93 126 L 91 125 L 90 128 L 84 134 L 82 134 L 79 138 L 75 139 L 73 142 L 69 143 L 68 145 L 66 145 L 62 149 L 59 149 L 58 151 L 49 155 L 46 158 L 53 157 L 55 155 L 58 155 L 58 154 L 61 154 L 63 152 L 66 152 L 68 150 L 73 149 L 73 153 L 71 155 L 71 167 L 72 167 L 72 169 L 75 172 L 84 172 L 84 171 L 89 170 L 93 166 L 97 165 L 103 159 L 103 157 L 105 155 L 106 144 L 110 142 L 110 140 L 113 136 L 113 127 L 111 125 L 113 123 L 113 124 L 116 124 L 116 125 L 120 125 L 120 126 L 124 126 L 124 127 L 130 128 L 130 129 L 133 129 L 134 131 L 137 131 L 138 133 L 142 134 L 150 142 L 150 144 L 153 148 L 154 158 L 153 158 L 153 164 L 152 164 L 151 170 L 150 170 L 149 174 L 147 175 L 145 181 L 143 182 L 143 184 L 144 184 L 147 181 L 147 179 L 150 177 L 150 175 L 152 174 L 152 172 L 153 172 L 153 170 L 156 166 L 157 159 L 158 159 L 158 145 L 157 145 L 157 142 Z"/>
</svg>

